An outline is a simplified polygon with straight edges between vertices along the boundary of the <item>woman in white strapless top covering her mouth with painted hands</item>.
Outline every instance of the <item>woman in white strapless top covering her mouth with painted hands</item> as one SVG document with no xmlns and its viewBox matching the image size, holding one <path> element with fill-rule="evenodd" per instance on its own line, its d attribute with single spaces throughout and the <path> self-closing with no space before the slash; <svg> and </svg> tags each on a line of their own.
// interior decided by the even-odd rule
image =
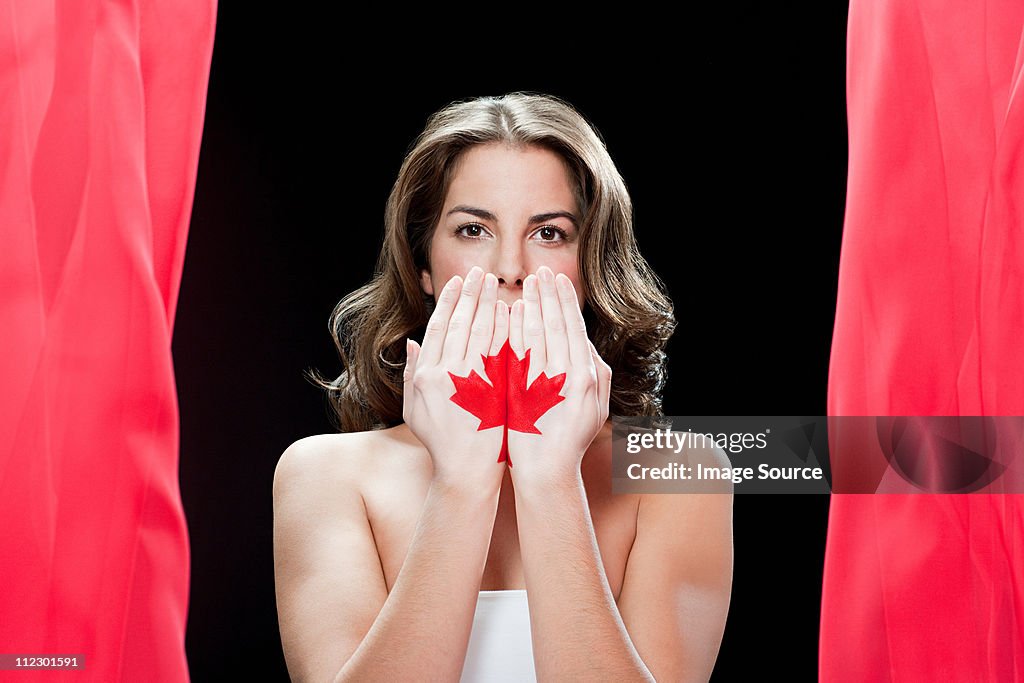
<svg viewBox="0 0 1024 683">
<path fill-rule="evenodd" d="M 610 493 L 608 414 L 660 414 L 675 327 L 631 214 L 555 98 L 430 119 L 377 274 L 332 319 L 345 433 L 292 444 L 274 477 L 294 679 L 711 675 L 731 496 Z"/>
</svg>

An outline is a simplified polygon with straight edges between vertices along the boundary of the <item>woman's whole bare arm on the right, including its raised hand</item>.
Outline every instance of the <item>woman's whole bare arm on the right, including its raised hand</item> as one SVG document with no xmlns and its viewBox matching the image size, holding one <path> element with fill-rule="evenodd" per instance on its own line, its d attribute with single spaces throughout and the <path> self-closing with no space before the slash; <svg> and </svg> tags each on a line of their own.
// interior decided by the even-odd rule
<svg viewBox="0 0 1024 683">
<path fill-rule="evenodd" d="M 568 278 L 542 266 L 525 279 L 522 301 L 511 346 L 524 362 L 529 350 L 530 379 L 558 378 L 562 390 L 562 400 L 538 408 L 546 410 L 532 432 L 509 433 L 538 677 L 707 680 L 731 591 L 731 494 L 645 496 L 616 605 L 581 476 L 608 417 L 611 369 L 587 338 Z"/>
</svg>

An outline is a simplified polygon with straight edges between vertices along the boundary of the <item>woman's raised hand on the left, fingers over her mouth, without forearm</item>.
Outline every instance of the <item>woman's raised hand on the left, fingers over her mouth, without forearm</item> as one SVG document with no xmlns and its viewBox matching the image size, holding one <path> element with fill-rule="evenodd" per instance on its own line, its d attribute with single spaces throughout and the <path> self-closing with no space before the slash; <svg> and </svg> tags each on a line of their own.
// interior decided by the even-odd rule
<svg viewBox="0 0 1024 683">
<path fill-rule="evenodd" d="M 508 331 L 509 308 L 498 301 L 498 279 L 489 272 L 484 278 L 474 266 L 465 282 L 455 275 L 444 285 L 423 346 L 407 343 L 402 417 L 427 447 L 435 481 L 501 487 L 506 463 L 499 463 L 498 456 L 504 427 L 478 431 L 480 419 L 450 399 L 455 385 L 449 373 L 467 377 L 475 370 L 494 385 L 496 378 L 487 377 L 481 356 L 497 354 Z M 499 384 L 504 387 L 504 378 Z"/>
</svg>

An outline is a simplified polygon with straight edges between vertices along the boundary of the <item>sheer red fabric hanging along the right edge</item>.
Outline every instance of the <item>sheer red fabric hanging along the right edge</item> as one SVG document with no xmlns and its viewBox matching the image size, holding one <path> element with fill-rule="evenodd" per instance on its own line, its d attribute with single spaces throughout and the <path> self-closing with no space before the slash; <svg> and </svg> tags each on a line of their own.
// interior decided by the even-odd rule
<svg viewBox="0 0 1024 683">
<path fill-rule="evenodd" d="M 829 415 L 1024 415 L 1022 27 L 850 3 Z M 1019 495 L 834 496 L 821 680 L 1024 680 L 1022 578 Z"/>
</svg>

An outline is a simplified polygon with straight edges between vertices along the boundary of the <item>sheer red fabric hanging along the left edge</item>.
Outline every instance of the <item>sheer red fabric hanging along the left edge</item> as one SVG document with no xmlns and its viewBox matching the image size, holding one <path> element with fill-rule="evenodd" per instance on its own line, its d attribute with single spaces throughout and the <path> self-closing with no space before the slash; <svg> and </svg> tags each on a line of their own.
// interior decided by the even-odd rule
<svg viewBox="0 0 1024 683">
<path fill-rule="evenodd" d="M 188 679 L 171 331 L 215 15 L 0 4 L 0 652 L 75 680 Z"/>
</svg>

